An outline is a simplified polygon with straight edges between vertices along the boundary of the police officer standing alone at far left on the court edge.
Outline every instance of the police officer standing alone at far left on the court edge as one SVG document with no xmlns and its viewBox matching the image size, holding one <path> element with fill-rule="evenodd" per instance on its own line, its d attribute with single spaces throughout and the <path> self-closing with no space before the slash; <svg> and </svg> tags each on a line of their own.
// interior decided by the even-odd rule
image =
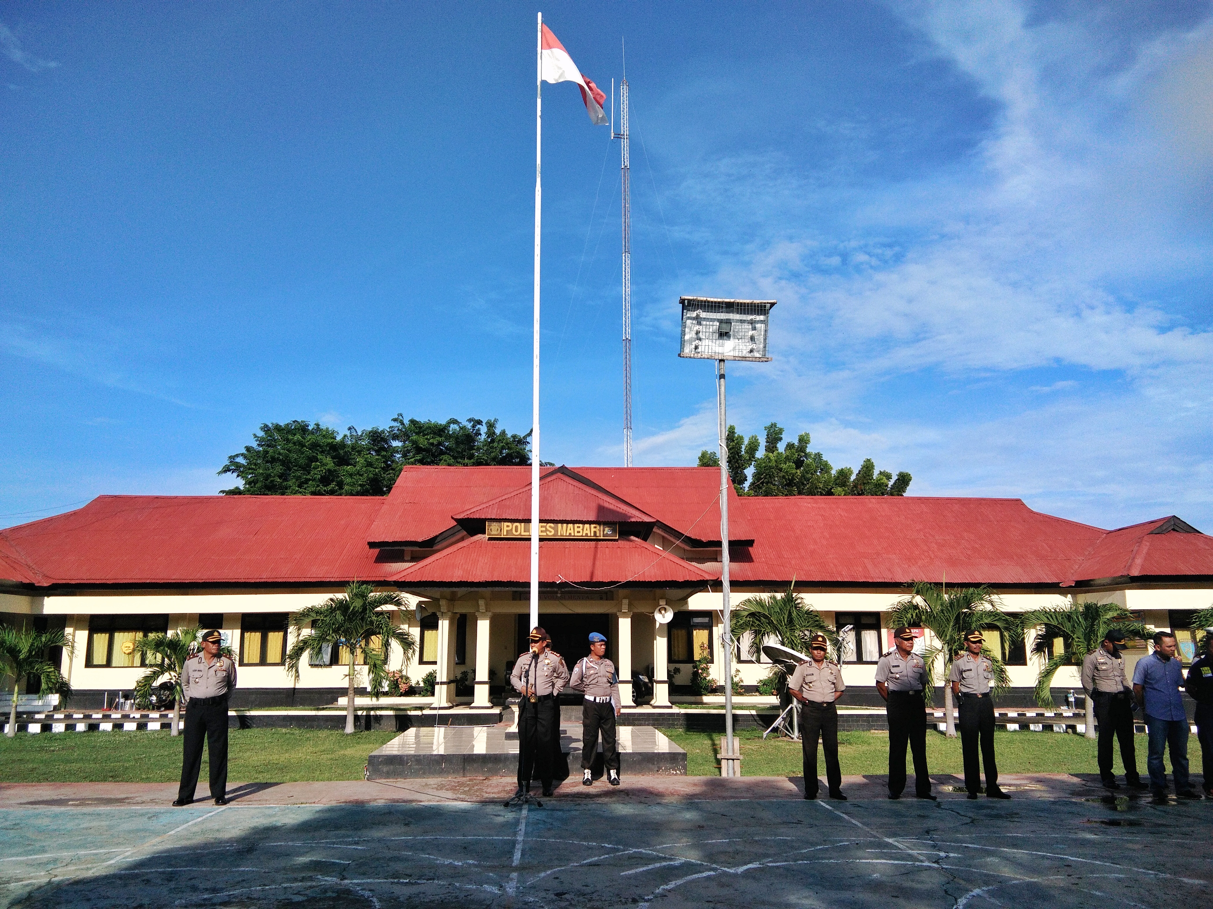
<svg viewBox="0 0 1213 909">
<path fill-rule="evenodd" d="M 198 772 L 203 766 L 203 738 L 211 765 L 211 797 L 227 805 L 227 702 L 235 688 L 235 663 L 220 654 L 223 635 L 215 629 L 203 633 L 203 652 L 186 661 L 181 690 L 186 702 L 186 736 L 182 747 L 181 788 L 173 805 L 194 800 Z"/>
</svg>

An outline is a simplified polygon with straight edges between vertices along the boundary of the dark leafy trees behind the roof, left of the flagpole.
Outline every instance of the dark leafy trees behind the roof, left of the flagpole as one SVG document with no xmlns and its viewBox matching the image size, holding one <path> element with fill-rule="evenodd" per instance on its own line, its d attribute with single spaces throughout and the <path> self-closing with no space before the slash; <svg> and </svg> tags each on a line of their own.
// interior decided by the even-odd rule
<svg viewBox="0 0 1213 909">
<path fill-rule="evenodd" d="M 406 464 L 529 464 L 530 433 L 497 429 L 497 421 L 405 419 L 387 429 L 335 429 L 295 419 L 262 423 L 254 444 L 230 454 L 220 475 L 239 486 L 226 496 L 386 496 Z"/>
</svg>

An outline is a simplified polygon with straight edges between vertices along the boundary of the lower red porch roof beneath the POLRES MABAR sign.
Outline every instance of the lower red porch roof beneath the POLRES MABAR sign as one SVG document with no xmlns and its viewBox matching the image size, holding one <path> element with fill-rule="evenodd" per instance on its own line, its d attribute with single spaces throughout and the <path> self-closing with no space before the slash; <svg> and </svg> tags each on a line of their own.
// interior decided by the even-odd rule
<svg viewBox="0 0 1213 909">
<path fill-rule="evenodd" d="M 545 584 L 699 584 L 718 577 L 634 537 L 610 543 L 545 542 L 539 570 Z M 405 568 L 392 581 L 408 587 L 526 584 L 530 543 L 471 537 Z"/>
</svg>

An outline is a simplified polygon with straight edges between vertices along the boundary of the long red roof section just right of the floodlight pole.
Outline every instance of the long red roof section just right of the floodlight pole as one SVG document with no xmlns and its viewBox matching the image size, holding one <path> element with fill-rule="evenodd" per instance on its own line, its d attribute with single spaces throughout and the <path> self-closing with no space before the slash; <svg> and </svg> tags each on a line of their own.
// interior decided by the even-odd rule
<svg viewBox="0 0 1213 909">
<path fill-rule="evenodd" d="M 757 536 L 752 561 L 735 553 L 738 582 L 1055 584 L 1105 533 L 1019 499 L 744 497 L 739 508 Z"/>
</svg>

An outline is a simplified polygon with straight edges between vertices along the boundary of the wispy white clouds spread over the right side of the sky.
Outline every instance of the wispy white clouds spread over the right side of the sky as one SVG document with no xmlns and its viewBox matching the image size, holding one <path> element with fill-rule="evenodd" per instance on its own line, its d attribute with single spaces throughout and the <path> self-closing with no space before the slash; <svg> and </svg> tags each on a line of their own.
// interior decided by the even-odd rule
<svg viewBox="0 0 1213 909">
<path fill-rule="evenodd" d="M 1126 52 L 1081 19 L 1029 23 L 1016 4 L 910 8 L 924 52 L 997 103 L 974 158 L 859 191 L 762 153 L 680 182 L 682 210 L 700 224 L 728 211 L 735 240 L 717 238 L 725 251 L 699 284 L 780 301 L 775 361 L 738 407 L 778 401 L 779 422 L 804 421 L 836 463 L 910 469 L 918 494 L 1213 525 L 1208 301 L 1156 292 L 1213 273 L 1213 27 Z M 818 208 L 836 212 L 837 236 Z M 915 377 L 917 413 L 872 433 L 865 404 Z M 946 404 L 991 378 L 1023 394 Z M 688 421 L 647 454 L 695 447 Z"/>
</svg>

